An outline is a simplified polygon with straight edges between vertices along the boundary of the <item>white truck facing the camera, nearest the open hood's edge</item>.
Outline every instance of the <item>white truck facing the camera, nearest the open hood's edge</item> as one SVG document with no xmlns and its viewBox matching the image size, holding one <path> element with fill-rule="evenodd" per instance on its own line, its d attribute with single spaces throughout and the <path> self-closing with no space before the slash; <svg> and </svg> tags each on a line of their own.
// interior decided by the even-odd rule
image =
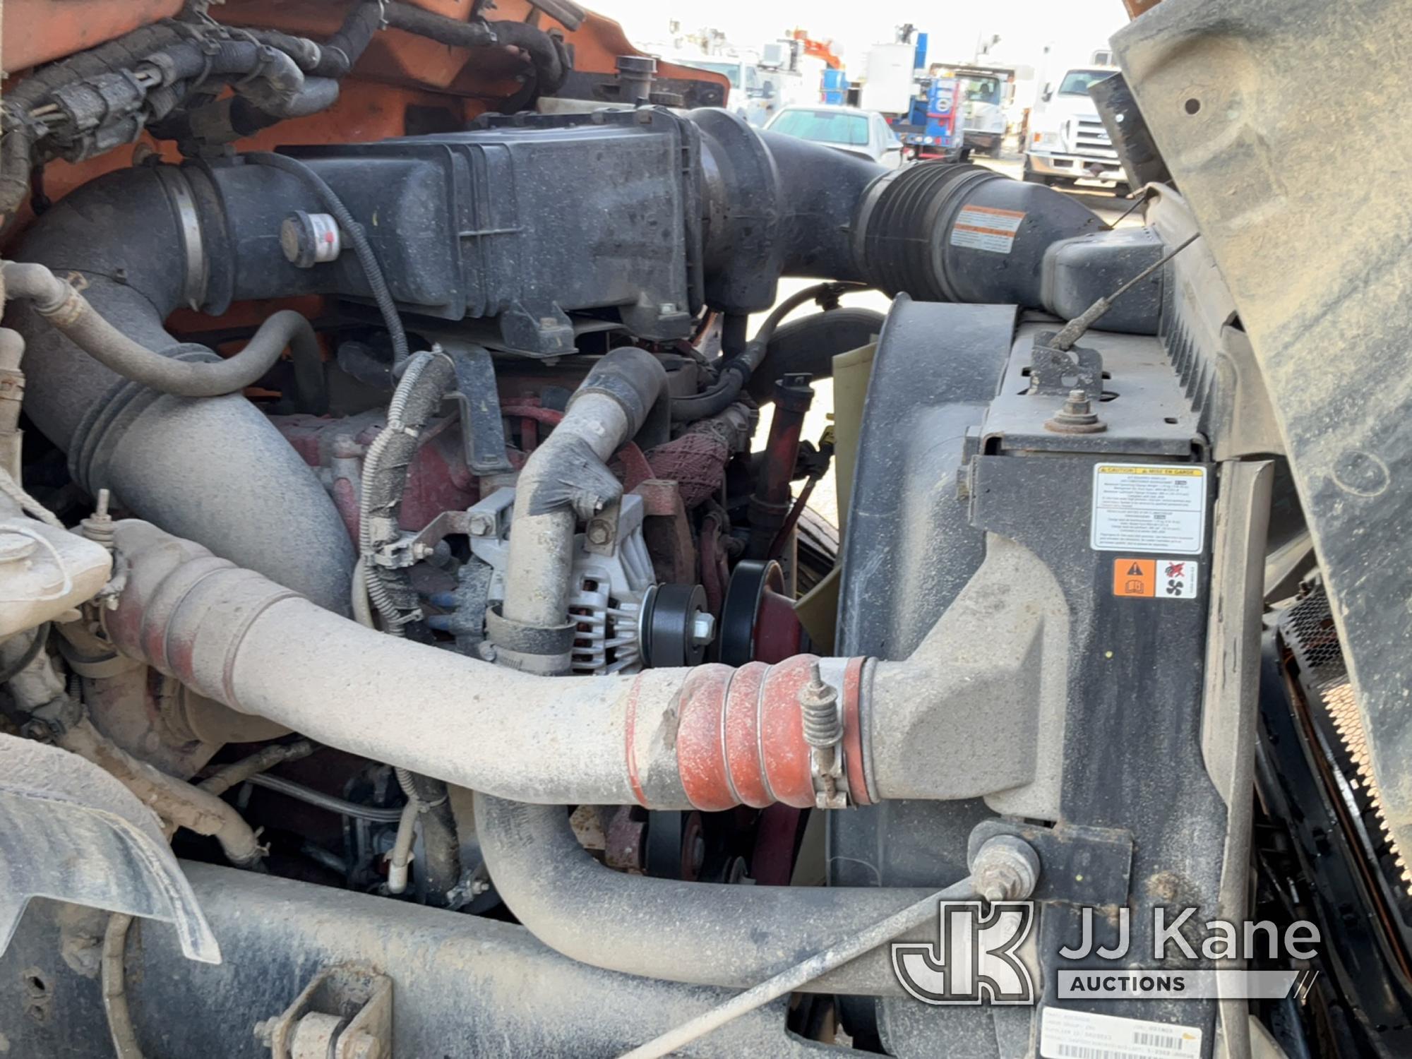
<svg viewBox="0 0 1412 1059">
<path fill-rule="evenodd" d="M 1025 138 L 1025 179 L 1053 186 L 1110 188 L 1127 195 L 1118 164 L 1089 86 L 1117 73 L 1111 66 L 1082 66 L 1063 72 L 1058 86 L 1045 85 L 1029 114 Z"/>
</svg>

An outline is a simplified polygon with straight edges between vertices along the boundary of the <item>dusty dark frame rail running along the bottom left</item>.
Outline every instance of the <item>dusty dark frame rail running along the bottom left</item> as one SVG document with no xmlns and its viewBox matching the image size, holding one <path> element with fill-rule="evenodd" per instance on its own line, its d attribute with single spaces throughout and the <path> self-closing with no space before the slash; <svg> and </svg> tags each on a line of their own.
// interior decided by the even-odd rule
<svg viewBox="0 0 1412 1059">
<path fill-rule="evenodd" d="M 731 995 L 587 967 L 510 923 L 206 864 L 182 867 L 212 909 L 226 959 L 219 967 L 192 964 L 171 931 L 134 925 L 128 1001 L 150 1056 L 270 1059 L 254 1024 L 280 1015 L 319 971 L 339 963 L 361 963 L 393 980 L 398 1059 L 614 1056 Z M 0 957 L 0 983 L 32 969 L 51 998 L 45 1018 L 4 1024 L 8 1055 L 109 1059 L 97 983 L 59 956 L 61 908 L 35 902 L 14 947 Z M 686 1055 L 784 1059 L 836 1051 L 789 1035 L 775 1004 Z"/>
</svg>

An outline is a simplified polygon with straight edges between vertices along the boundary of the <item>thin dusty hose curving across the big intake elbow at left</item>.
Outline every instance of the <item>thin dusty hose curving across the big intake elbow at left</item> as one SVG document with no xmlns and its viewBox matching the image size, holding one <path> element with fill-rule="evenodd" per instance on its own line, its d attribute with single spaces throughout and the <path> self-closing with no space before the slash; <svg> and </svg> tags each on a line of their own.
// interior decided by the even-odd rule
<svg viewBox="0 0 1412 1059">
<path fill-rule="evenodd" d="M 176 397 L 220 397 L 254 385 L 289 349 L 295 371 L 305 380 L 322 384 L 319 342 L 309 322 L 292 309 L 281 309 L 265 319 L 246 347 L 216 361 L 176 360 L 134 342 L 103 319 L 72 285 L 41 264 L 6 261 L 0 268 L 7 298 L 28 298 L 45 319 L 62 330 L 73 345 L 124 378 Z M 328 411 L 309 409 L 313 414 Z"/>
</svg>

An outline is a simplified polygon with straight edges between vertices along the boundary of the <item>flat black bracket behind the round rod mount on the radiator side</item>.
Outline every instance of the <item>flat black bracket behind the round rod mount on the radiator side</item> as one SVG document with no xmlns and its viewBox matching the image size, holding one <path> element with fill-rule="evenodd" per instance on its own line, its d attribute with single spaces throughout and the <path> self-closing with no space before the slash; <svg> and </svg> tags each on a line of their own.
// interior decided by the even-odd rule
<svg viewBox="0 0 1412 1059">
<path fill-rule="evenodd" d="M 1132 871 L 1132 836 L 1108 827 L 1010 823 L 981 820 L 967 840 L 967 861 L 997 834 L 1024 839 L 1039 854 L 1039 885 L 1031 901 L 1062 901 L 1094 908 L 1121 907 L 1128 902 Z"/>
</svg>

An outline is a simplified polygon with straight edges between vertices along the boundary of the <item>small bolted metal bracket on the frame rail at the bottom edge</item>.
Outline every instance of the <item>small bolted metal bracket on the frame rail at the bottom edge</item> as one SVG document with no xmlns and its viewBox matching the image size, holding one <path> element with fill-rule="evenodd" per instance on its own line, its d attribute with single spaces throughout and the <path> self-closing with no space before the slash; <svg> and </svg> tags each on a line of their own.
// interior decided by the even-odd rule
<svg viewBox="0 0 1412 1059">
<path fill-rule="evenodd" d="M 325 967 L 256 1036 L 274 1059 L 393 1059 L 393 980 L 357 963 Z"/>
</svg>

